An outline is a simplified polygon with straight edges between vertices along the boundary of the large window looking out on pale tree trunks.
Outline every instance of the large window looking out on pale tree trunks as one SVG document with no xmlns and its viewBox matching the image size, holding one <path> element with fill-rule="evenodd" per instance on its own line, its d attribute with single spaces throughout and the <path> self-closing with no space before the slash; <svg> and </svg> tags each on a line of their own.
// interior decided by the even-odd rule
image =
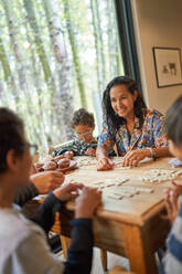
<svg viewBox="0 0 182 274">
<path fill-rule="evenodd" d="M 0 103 L 23 117 L 28 138 L 43 149 L 73 137 L 79 107 L 95 113 L 100 130 L 105 86 L 130 62 L 121 57 L 118 2 L 1 1 Z"/>
</svg>

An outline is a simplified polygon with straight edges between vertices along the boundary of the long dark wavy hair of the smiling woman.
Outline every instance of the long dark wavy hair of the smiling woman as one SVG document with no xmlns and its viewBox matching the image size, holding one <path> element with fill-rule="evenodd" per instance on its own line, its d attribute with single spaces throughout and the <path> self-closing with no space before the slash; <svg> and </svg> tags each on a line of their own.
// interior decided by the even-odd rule
<svg viewBox="0 0 182 274">
<path fill-rule="evenodd" d="M 103 95 L 103 110 L 104 110 L 104 122 L 107 124 L 107 129 L 109 135 L 115 139 L 116 133 L 119 127 L 126 123 L 125 118 L 119 117 L 111 107 L 110 102 L 110 89 L 117 85 L 125 85 L 130 94 L 135 94 L 138 91 L 138 85 L 135 80 L 128 76 L 118 76 L 111 80 Z M 147 106 L 142 96 L 138 93 L 137 99 L 135 102 L 135 115 L 140 120 L 140 127 L 143 124 L 146 116 Z"/>
</svg>

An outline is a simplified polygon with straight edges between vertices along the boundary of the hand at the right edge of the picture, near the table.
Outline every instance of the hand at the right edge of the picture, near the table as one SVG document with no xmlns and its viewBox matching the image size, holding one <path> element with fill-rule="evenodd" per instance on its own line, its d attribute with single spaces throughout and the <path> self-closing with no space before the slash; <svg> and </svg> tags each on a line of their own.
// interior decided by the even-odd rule
<svg viewBox="0 0 182 274">
<path fill-rule="evenodd" d="M 180 200 L 179 197 L 182 194 L 182 186 L 176 185 L 172 181 L 173 188 L 165 189 L 165 208 L 167 215 L 164 219 L 170 220 L 171 224 L 173 224 L 180 209 Z"/>
</svg>

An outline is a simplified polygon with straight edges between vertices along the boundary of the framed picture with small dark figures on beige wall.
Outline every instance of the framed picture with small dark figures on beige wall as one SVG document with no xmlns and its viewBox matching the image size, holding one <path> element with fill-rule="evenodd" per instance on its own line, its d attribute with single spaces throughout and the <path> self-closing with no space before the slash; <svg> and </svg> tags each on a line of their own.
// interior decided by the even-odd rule
<svg viewBox="0 0 182 274">
<path fill-rule="evenodd" d="M 158 87 L 182 85 L 181 50 L 153 48 Z"/>
</svg>

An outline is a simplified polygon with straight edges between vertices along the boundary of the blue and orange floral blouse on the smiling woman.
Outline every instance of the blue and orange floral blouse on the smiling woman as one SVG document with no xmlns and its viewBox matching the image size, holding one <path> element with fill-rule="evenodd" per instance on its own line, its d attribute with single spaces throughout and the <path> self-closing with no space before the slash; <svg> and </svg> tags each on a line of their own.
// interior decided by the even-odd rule
<svg viewBox="0 0 182 274">
<path fill-rule="evenodd" d="M 139 127 L 139 118 L 135 117 L 132 136 L 129 137 L 126 125 L 121 125 L 116 134 L 116 143 L 108 134 L 107 127 L 104 128 L 98 138 L 98 146 L 107 149 L 115 148 L 119 156 L 124 156 L 130 149 L 146 147 L 168 146 L 167 136 L 163 133 L 164 116 L 156 109 L 147 109 L 142 127 Z"/>
</svg>

